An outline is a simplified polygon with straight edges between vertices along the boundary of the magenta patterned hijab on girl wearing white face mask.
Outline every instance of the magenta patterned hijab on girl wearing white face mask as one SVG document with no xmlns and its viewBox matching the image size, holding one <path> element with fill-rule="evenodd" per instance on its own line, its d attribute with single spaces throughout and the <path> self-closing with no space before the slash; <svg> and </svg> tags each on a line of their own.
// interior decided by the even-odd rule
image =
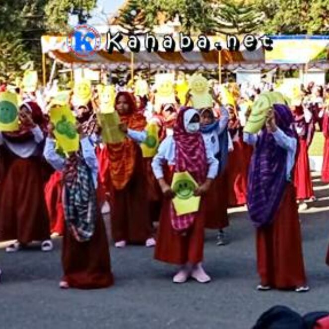
<svg viewBox="0 0 329 329">
<path fill-rule="evenodd" d="M 176 146 L 175 172 L 188 171 L 198 185 L 204 183 L 207 174 L 207 159 L 205 145 L 201 132 L 189 133 L 186 130 L 191 119 L 198 115 L 195 109 L 182 107 L 178 113 L 174 127 L 174 140 Z M 176 231 L 188 229 L 195 219 L 196 213 L 178 216 L 171 205 L 171 223 Z"/>
</svg>

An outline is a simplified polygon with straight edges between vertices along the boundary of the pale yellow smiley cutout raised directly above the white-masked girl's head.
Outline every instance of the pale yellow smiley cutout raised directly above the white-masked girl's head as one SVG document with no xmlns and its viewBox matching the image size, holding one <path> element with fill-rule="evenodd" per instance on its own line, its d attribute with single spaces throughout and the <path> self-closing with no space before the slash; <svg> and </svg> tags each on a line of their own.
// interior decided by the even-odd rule
<svg viewBox="0 0 329 329">
<path fill-rule="evenodd" d="M 209 94 L 208 80 L 201 74 L 193 74 L 189 79 L 192 106 L 195 109 L 212 107 L 212 97 Z"/>
</svg>

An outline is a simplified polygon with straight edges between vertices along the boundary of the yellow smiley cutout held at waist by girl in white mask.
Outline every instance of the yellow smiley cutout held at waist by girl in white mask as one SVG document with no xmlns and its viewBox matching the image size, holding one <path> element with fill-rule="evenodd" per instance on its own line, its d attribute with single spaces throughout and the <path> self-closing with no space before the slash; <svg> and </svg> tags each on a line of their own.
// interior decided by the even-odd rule
<svg viewBox="0 0 329 329">
<path fill-rule="evenodd" d="M 197 187 L 197 182 L 187 171 L 174 174 L 171 188 L 176 194 L 173 204 L 178 216 L 198 211 L 200 197 L 194 196 Z"/>
</svg>

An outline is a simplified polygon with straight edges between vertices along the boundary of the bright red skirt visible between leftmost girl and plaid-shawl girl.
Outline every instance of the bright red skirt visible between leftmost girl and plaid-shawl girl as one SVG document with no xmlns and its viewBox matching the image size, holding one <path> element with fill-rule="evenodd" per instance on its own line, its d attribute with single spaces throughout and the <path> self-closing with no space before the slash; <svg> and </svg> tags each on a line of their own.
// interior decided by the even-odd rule
<svg viewBox="0 0 329 329">
<path fill-rule="evenodd" d="M 62 173 L 56 171 L 45 186 L 45 199 L 50 219 L 50 231 L 59 235 L 63 235 L 65 226 L 62 191 Z"/>
</svg>

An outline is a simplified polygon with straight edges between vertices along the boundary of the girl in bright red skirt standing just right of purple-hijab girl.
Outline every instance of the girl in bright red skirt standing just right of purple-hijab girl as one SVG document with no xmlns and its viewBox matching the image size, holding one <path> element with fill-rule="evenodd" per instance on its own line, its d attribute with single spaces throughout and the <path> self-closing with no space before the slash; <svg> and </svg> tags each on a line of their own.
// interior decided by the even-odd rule
<svg viewBox="0 0 329 329">
<path fill-rule="evenodd" d="M 312 114 L 303 109 L 301 104 L 291 107 L 294 116 L 294 127 L 298 135 L 297 158 L 294 170 L 294 185 L 297 200 L 301 201 L 300 210 L 305 210 L 305 199 L 315 199 L 310 171 L 308 148 L 314 134 Z"/>
</svg>

